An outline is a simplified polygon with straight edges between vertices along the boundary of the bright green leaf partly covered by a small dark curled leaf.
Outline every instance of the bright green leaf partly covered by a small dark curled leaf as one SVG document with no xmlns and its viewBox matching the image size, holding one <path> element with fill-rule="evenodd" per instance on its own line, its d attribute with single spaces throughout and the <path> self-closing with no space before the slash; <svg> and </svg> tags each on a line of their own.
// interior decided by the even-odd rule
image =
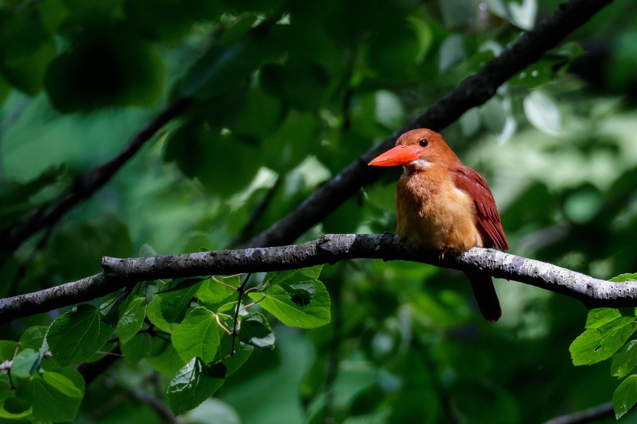
<svg viewBox="0 0 637 424">
<path fill-rule="evenodd" d="M 297 306 L 278 285 L 268 288 L 266 294 L 248 293 L 250 298 L 261 301 L 259 305 L 285 325 L 315 328 L 329 323 L 329 294 L 322 282 L 316 280 L 316 294 L 307 306 Z M 265 297 L 265 299 L 264 299 Z"/>
</svg>

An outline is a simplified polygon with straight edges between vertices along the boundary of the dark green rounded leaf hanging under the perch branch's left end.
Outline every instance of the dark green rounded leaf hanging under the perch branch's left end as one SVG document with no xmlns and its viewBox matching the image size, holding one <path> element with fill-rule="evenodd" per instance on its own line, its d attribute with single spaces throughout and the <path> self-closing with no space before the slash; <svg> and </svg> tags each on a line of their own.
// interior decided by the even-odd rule
<svg viewBox="0 0 637 424">
<path fill-rule="evenodd" d="M 108 341 L 113 328 L 95 306 L 79 304 L 60 315 L 48 329 L 47 343 L 61 367 L 81 364 Z"/>
</svg>

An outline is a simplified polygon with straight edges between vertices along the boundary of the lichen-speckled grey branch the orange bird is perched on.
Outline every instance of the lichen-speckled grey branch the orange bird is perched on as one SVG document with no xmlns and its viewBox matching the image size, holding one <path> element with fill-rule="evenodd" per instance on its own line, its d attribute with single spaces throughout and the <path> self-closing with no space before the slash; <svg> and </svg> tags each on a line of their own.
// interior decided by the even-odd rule
<svg viewBox="0 0 637 424">
<path fill-rule="evenodd" d="M 393 233 L 331 234 L 297 245 L 217 250 L 182 255 L 117 259 L 103 257 L 103 272 L 51 289 L 0 299 L 0 323 L 104 296 L 134 282 L 197 275 L 255 273 L 304 268 L 343 259 L 375 258 L 433 264 L 535 285 L 582 301 L 589 308 L 636 306 L 637 282 L 608 282 L 552 264 L 494 249 L 417 251 Z"/>
</svg>

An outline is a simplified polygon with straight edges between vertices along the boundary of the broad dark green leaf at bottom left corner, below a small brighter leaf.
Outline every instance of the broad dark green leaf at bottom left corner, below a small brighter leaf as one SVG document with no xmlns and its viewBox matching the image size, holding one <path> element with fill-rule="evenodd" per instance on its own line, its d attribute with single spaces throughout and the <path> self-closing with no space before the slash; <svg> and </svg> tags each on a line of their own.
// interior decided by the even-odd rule
<svg viewBox="0 0 637 424">
<path fill-rule="evenodd" d="M 37 373 L 18 386 L 15 394 L 31 404 L 34 420 L 44 422 L 73 420 L 82 403 L 82 397 L 69 397 Z"/>
</svg>

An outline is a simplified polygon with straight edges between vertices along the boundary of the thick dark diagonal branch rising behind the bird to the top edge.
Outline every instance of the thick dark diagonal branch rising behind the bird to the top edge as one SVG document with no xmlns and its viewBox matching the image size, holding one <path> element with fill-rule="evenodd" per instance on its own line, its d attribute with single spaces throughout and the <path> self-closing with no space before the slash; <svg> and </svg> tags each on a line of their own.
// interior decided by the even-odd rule
<svg viewBox="0 0 637 424">
<path fill-rule="evenodd" d="M 424 114 L 413 118 L 403 128 L 387 137 L 382 144 L 363 154 L 336 177 L 318 188 L 297 209 L 252 238 L 243 247 L 294 243 L 294 240 L 322 221 L 362 186 L 375 182 L 382 175 L 385 168 L 369 167 L 367 164 L 378 154 L 394 147 L 402 133 L 414 128 L 431 128 L 439 131 L 447 127 L 471 107 L 480 106 L 489 100 L 500 85 L 539 60 L 545 51 L 557 46 L 562 39 L 611 1 L 569 0 L 560 4 L 557 11 L 550 18 L 540 22 L 534 31 L 524 33 L 501 55 L 462 81 Z"/>
</svg>

